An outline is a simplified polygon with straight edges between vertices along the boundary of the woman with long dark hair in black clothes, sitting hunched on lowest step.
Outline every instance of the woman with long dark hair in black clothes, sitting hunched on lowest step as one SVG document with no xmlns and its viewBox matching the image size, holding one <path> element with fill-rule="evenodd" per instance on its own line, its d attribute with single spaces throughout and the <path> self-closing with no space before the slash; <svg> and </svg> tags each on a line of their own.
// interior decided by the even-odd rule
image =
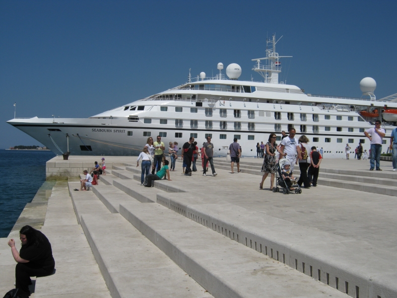
<svg viewBox="0 0 397 298">
<path fill-rule="evenodd" d="M 19 252 L 14 239 L 8 241 L 12 256 L 18 263 L 15 266 L 15 288 L 22 292 L 22 296 L 29 297 L 29 285 L 32 284 L 30 277 L 51 275 L 55 261 L 50 241 L 41 231 L 25 225 L 19 231 L 19 238 L 22 242 Z"/>
</svg>

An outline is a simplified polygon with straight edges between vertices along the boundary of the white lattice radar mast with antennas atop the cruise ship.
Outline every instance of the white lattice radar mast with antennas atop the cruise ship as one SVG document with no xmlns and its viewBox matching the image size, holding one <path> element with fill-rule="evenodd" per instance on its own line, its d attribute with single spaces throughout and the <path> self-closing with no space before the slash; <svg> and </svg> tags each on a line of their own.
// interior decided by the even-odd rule
<svg viewBox="0 0 397 298">
<path fill-rule="evenodd" d="M 273 33 L 271 40 L 266 38 L 266 57 L 252 59 L 252 61 L 257 62 L 252 70 L 262 75 L 265 79 L 265 83 L 278 84 L 278 74 L 281 73 L 281 62 L 279 62 L 278 59 L 292 58 L 292 56 L 278 56 L 278 53 L 276 53 L 276 43 L 281 39 L 281 37 L 275 41 L 276 36 Z M 261 60 L 267 60 L 266 64 L 261 65 Z"/>
</svg>

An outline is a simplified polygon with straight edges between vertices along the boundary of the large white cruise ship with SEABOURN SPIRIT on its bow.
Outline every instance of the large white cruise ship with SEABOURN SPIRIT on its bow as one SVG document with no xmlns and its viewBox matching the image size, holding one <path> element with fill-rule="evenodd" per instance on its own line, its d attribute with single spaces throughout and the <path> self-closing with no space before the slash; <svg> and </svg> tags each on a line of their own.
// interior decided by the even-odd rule
<svg viewBox="0 0 397 298">
<path fill-rule="evenodd" d="M 279 40 L 279 39 L 278 39 Z M 278 41 L 277 40 L 277 41 Z M 397 121 L 397 93 L 377 100 L 376 82 L 366 77 L 360 82 L 361 98 L 323 96 L 279 81 L 281 59 L 275 36 L 266 40 L 266 56 L 253 59 L 253 71 L 263 81 L 240 81 L 241 67 L 230 64 L 227 77 L 189 76 L 186 83 L 147 98 L 133 101 L 101 114 L 84 118 L 15 118 L 7 123 L 33 137 L 56 154 L 137 155 L 148 137 L 161 136 L 168 147 L 179 147 L 194 137 L 201 146 L 207 136 L 214 155 L 225 156 L 234 138 L 243 156 L 257 156 L 257 143 L 270 133 L 296 129 L 296 137 L 306 135 L 310 145 L 323 148 L 324 157 L 341 158 L 344 148 L 362 143 L 369 149 L 364 131 L 382 121 L 386 129 L 383 152 L 387 152 L 391 130 Z"/>
</svg>

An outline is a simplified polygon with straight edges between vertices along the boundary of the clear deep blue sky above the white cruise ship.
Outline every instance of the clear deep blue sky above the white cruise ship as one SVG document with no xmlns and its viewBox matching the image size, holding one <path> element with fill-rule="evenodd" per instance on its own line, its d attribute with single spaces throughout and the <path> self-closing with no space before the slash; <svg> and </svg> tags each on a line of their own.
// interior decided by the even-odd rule
<svg viewBox="0 0 397 298">
<path fill-rule="evenodd" d="M 275 4 L 276 3 L 276 4 Z M 283 35 L 281 79 L 307 93 L 397 93 L 397 1 L 0 1 L 0 148 L 39 145 L 5 123 L 85 118 L 251 59 Z"/>
</svg>

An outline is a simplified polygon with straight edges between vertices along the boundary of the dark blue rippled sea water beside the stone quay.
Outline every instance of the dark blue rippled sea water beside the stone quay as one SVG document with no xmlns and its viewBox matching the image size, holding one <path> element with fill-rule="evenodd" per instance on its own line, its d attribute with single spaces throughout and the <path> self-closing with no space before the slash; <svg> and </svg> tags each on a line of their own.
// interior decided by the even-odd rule
<svg viewBox="0 0 397 298">
<path fill-rule="evenodd" d="M 0 237 L 7 237 L 27 203 L 46 180 L 48 150 L 0 149 Z"/>
</svg>

